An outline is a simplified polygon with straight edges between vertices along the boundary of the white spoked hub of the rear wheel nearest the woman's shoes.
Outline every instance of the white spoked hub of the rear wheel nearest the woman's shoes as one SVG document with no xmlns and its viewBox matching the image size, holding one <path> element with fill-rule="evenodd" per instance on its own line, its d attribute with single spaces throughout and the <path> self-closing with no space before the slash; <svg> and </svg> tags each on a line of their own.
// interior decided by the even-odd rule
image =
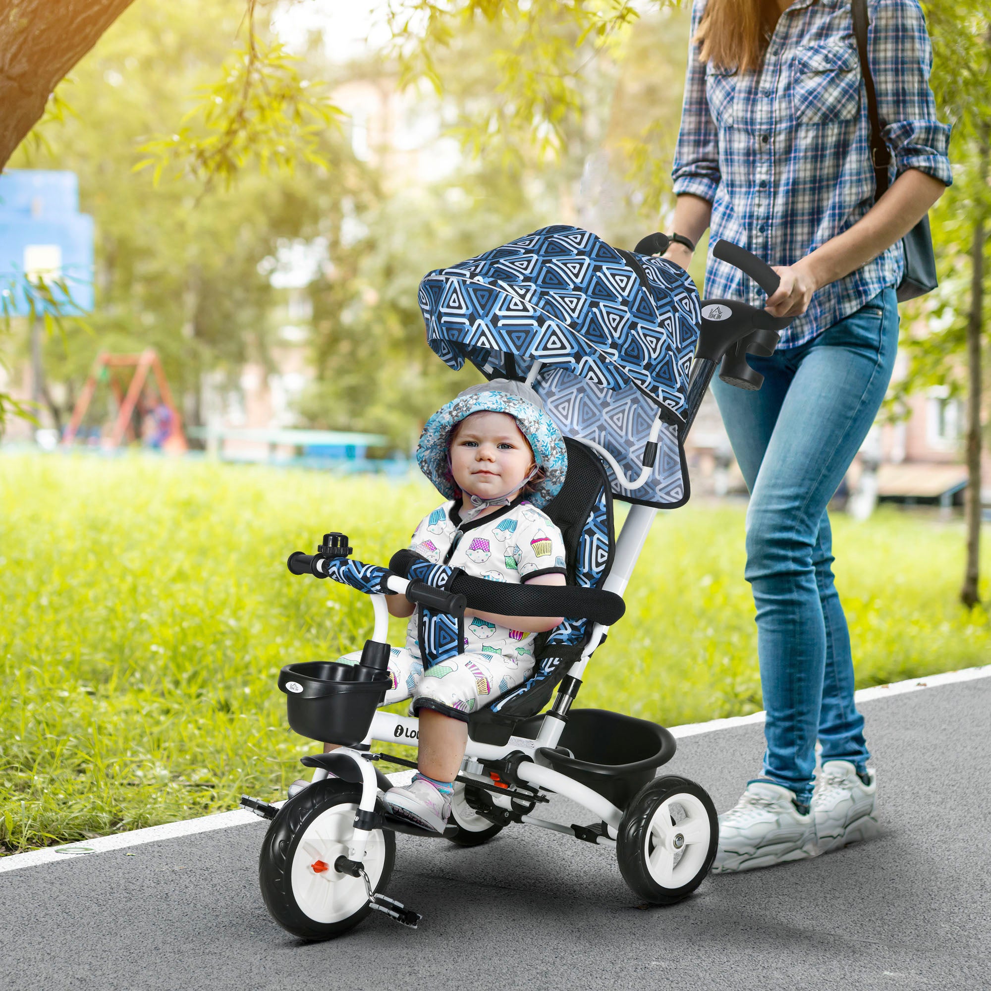
<svg viewBox="0 0 991 991">
<path fill-rule="evenodd" d="M 644 860 L 662 888 L 688 884 L 706 862 L 712 830 L 702 800 L 687 792 L 665 799 L 644 836 Z"/>
</svg>

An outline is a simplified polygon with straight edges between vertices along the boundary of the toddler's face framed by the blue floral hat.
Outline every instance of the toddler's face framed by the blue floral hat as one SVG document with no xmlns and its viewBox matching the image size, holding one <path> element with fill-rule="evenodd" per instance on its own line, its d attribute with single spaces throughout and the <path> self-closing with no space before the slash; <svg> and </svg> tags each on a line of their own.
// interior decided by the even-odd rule
<svg viewBox="0 0 991 991">
<path fill-rule="evenodd" d="M 473 413 L 451 440 L 451 474 L 466 495 L 512 495 L 533 468 L 533 453 L 508 413 Z"/>
</svg>

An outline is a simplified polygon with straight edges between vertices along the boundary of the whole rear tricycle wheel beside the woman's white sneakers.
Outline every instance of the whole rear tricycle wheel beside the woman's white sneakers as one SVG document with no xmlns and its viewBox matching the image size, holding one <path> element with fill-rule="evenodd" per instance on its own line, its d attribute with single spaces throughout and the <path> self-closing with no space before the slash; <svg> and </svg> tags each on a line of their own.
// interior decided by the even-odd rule
<svg viewBox="0 0 991 991">
<path fill-rule="evenodd" d="M 709 793 L 687 778 L 655 778 L 623 813 L 616 858 L 623 880 L 654 905 L 674 905 L 716 859 L 719 823 Z"/>
</svg>

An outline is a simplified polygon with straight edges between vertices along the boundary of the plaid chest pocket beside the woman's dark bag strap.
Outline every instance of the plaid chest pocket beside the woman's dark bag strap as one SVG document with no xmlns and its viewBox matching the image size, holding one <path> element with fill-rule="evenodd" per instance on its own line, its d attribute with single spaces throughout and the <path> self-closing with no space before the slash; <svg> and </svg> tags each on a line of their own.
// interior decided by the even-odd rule
<svg viewBox="0 0 991 991">
<path fill-rule="evenodd" d="M 860 109 L 860 63 L 844 45 L 810 45 L 792 62 L 792 107 L 803 124 L 850 120 Z"/>
</svg>

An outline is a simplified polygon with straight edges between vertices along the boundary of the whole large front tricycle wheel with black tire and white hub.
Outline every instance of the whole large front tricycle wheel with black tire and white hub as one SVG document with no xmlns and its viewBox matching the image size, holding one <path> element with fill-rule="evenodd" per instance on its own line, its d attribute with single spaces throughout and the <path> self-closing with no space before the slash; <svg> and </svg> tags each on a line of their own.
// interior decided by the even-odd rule
<svg viewBox="0 0 991 991">
<path fill-rule="evenodd" d="M 371 911 L 365 881 L 334 869 L 348 855 L 359 785 L 315 781 L 279 809 L 259 858 L 262 897 L 275 922 L 302 939 L 330 939 Z M 374 829 L 364 860 L 372 891 L 385 888 L 395 862 L 395 833 Z"/>
</svg>

